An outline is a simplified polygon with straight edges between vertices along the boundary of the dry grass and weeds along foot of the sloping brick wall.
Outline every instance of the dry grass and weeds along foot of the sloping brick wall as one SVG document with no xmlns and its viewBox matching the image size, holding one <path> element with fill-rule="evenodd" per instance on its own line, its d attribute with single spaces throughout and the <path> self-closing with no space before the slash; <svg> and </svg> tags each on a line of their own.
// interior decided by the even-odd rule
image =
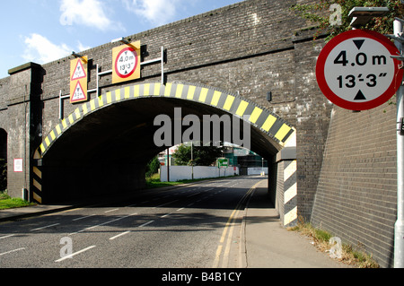
<svg viewBox="0 0 404 286">
<path fill-rule="evenodd" d="M 334 237 L 332 234 L 328 231 L 314 228 L 310 222 L 299 220 L 295 227 L 288 228 L 287 230 L 297 231 L 303 236 L 312 238 L 314 246 L 322 252 L 329 252 L 330 248 L 335 245 L 329 243 L 329 238 Z M 361 247 L 363 246 L 358 245 L 357 247 L 352 247 L 347 244 L 342 244 L 341 256 L 335 259 L 358 268 L 379 268 L 379 264 L 373 260 L 372 255 L 368 255 L 360 250 Z"/>
</svg>

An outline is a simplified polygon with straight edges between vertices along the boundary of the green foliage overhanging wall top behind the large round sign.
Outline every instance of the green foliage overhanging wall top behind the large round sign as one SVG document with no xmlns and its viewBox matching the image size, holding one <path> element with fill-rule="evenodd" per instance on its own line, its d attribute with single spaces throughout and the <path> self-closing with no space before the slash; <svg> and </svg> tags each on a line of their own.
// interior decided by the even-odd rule
<svg viewBox="0 0 404 286">
<path fill-rule="evenodd" d="M 331 25 L 329 18 L 333 11 L 329 11 L 331 4 L 339 4 L 342 8 L 341 25 Z M 328 33 L 326 40 L 332 39 L 338 34 L 351 30 L 351 19 L 348 17 L 349 12 L 354 7 L 388 7 L 390 12 L 383 17 L 375 17 L 368 22 L 361 29 L 374 30 L 382 34 L 392 34 L 394 17 L 402 18 L 404 12 L 404 5 L 400 0 L 321 0 L 317 4 L 296 4 L 292 10 L 300 14 L 304 19 L 316 23 L 318 30 L 314 35 L 317 38 L 321 33 Z"/>
</svg>

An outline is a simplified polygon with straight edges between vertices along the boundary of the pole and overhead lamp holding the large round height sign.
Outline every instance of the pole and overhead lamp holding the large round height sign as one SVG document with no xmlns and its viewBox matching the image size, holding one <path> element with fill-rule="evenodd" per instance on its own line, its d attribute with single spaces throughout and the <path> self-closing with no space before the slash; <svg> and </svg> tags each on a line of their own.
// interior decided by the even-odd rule
<svg viewBox="0 0 404 286">
<path fill-rule="evenodd" d="M 401 1 L 403 3 L 403 1 Z M 389 12 L 386 7 L 355 7 L 349 12 L 353 17 L 351 26 L 360 27 L 369 22 L 372 17 L 381 17 Z M 400 51 L 400 56 L 391 56 L 403 60 L 402 37 L 403 20 L 396 18 L 394 21 L 394 34 L 386 35 L 394 39 L 395 46 Z M 404 268 L 404 134 L 401 133 L 401 122 L 404 118 L 404 87 L 401 84 L 397 91 L 397 221 L 394 224 L 394 268 Z"/>
</svg>

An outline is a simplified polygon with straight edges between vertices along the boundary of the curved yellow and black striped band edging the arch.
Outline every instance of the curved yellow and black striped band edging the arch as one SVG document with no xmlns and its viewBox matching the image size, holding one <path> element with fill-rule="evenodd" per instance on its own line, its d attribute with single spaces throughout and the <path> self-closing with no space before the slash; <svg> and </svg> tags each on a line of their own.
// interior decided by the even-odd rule
<svg viewBox="0 0 404 286">
<path fill-rule="evenodd" d="M 51 144 L 57 140 L 57 137 L 63 134 L 69 126 L 74 125 L 81 118 L 93 111 L 123 100 L 134 100 L 136 98 L 145 97 L 168 97 L 192 100 L 223 109 L 237 117 L 248 118 L 247 121 L 249 121 L 250 124 L 258 127 L 280 145 L 285 145 L 287 139 L 294 133 L 294 127 L 286 123 L 281 117 L 278 117 L 266 108 L 259 107 L 259 105 L 250 100 L 227 91 L 180 82 L 168 82 L 165 85 L 157 82 L 142 83 L 122 87 L 115 91 L 108 91 L 100 97 L 75 108 L 75 111 L 61 120 L 40 144 L 40 148 L 38 149 L 40 157 L 48 151 Z"/>
</svg>

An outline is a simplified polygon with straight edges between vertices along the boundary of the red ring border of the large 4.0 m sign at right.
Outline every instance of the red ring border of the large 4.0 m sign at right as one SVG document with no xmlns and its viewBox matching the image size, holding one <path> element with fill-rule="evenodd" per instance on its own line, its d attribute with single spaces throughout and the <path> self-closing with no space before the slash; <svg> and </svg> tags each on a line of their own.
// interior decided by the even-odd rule
<svg viewBox="0 0 404 286">
<path fill-rule="evenodd" d="M 348 100 L 343 100 L 338 97 L 331 89 L 329 88 L 328 83 L 325 79 L 325 63 L 329 56 L 329 53 L 333 50 L 333 48 L 337 47 L 338 44 L 353 38 L 368 38 L 374 39 L 380 42 L 385 48 L 389 50 L 391 56 L 396 56 L 399 50 L 394 46 L 390 39 L 386 38 L 382 34 L 375 32 L 373 30 L 347 30 L 333 39 L 329 40 L 327 45 L 322 48 L 321 53 L 317 59 L 316 64 L 316 78 L 319 84 L 319 87 L 324 94 L 324 96 L 329 99 L 332 103 L 338 105 L 340 108 L 346 108 L 350 110 L 367 110 L 371 108 L 376 108 L 382 105 L 387 100 L 390 100 L 394 93 L 399 89 L 400 84 L 402 82 L 404 70 L 399 68 L 400 61 L 397 59 L 393 59 L 394 62 L 394 77 L 391 81 L 389 88 L 384 91 L 380 96 L 375 98 L 374 100 L 364 101 L 364 102 L 352 102 Z"/>
</svg>

